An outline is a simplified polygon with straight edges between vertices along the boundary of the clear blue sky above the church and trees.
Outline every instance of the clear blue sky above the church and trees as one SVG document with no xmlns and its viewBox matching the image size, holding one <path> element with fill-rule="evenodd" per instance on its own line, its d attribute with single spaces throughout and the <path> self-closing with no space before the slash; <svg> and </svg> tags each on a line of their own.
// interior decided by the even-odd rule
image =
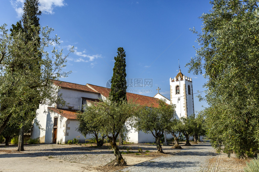
<svg viewBox="0 0 259 172">
<path fill-rule="evenodd" d="M 1 0 L 0 24 L 16 24 L 20 20 L 24 0 Z M 197 35 L 201 31 L 198 18 L 211 9 L 209 1 L 69 1 L 39 0 L 41 26 L 55 29 L 61 37 L 57 48 L 75 47 L 67 58 L 64 71 L 72 71 L 62 81 L 106 87 L 113 74 L 117 48 L 126 51 L 127 80 L 152 79 L 152 86 L 128 87 L 129 91 L 154 96 L 157 87 L 170 99 L 170 77 L 178 71 L 192 77 L 193 92 L 205 90 L 203 76 L 194 76 L 184 67 L 195 56 Z M 133 79 L 133 80 L 132 80 Z M 150 87 L 151 86 L 151 87 Z M 204 93 L 202 93 L 204 95 Z M 195 111 L 206 106 L 194 98 Z"/>
</svg>

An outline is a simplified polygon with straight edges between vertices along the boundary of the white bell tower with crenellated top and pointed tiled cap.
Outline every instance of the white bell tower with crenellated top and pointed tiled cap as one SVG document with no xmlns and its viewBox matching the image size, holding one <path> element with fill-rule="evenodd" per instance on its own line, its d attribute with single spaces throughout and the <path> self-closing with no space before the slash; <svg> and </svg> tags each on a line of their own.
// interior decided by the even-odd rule
<svg viewBox="0 0 259 172">
<path fill-rule="evenodd" d="M 176 105 L 176 118 L 188 117 L 194 114 L 192 78 L 189 78 L 179 69 L 179 73 L 170 81 L 170 103 Z"/>
</svg>

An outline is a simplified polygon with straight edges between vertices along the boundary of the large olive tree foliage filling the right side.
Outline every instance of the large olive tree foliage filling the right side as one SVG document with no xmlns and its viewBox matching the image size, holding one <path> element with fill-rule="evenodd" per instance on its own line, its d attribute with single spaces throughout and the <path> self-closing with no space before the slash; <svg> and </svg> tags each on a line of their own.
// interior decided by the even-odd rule
<svg viewBox="0 0 259 172">
<path fill-rule="evenodd" d="M 187 64 L 208 82 L 207 136 L 218 151 L 239 157 L 259 147 L 259 8 L 257 0 L 212 1 L 200 18 L 196 57 Z"/>
</svg>

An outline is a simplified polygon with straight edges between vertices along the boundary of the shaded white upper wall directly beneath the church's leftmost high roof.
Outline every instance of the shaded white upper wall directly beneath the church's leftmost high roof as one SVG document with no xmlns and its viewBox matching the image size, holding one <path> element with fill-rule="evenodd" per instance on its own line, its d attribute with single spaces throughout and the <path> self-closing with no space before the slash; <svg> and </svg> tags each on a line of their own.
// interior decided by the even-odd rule
<svg viewBox="0 0 259 172">
<path fill-rule="evenodd" d="M 67 106 L 62 106 L 58 108 L 68 109 L 68 106 L 73 107 L 74 110 L 81 110 L 82 108 L 82 97 L 87 97 L 91 99 L 98 99 L 99 94 L 86 93 L 81 91 L 60 89 L 58 95 L 62 94 L 62 98 L 66 101 Z"/>
</svg>

